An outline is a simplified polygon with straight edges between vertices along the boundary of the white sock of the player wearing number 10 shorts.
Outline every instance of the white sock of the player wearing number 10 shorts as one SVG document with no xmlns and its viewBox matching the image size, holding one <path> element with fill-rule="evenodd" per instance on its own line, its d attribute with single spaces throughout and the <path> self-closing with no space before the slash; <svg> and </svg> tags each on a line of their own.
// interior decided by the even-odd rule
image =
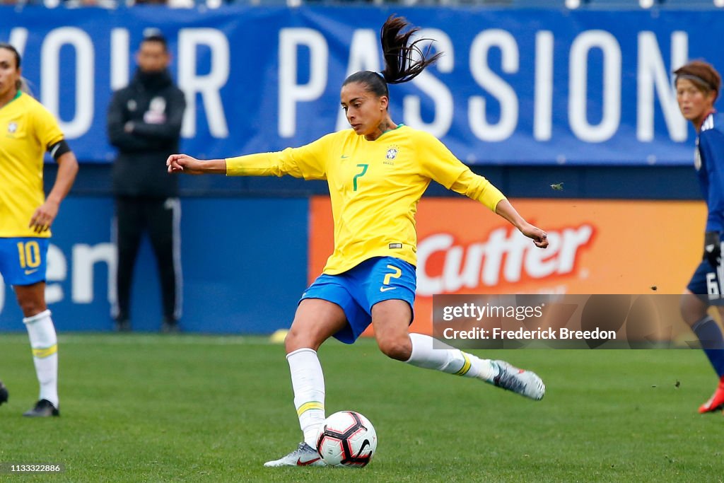
<svg viewBox="0 0 724 483">
<path fill-rule="evenodd" d="M 28 329 L 30 347 L 33 348 L 35 374 L 41 384 L 38 399 L 47 399 L 58 407 L 58 337 L 55 334 L 50 311 L 22 319 Z"/>
</svg>

